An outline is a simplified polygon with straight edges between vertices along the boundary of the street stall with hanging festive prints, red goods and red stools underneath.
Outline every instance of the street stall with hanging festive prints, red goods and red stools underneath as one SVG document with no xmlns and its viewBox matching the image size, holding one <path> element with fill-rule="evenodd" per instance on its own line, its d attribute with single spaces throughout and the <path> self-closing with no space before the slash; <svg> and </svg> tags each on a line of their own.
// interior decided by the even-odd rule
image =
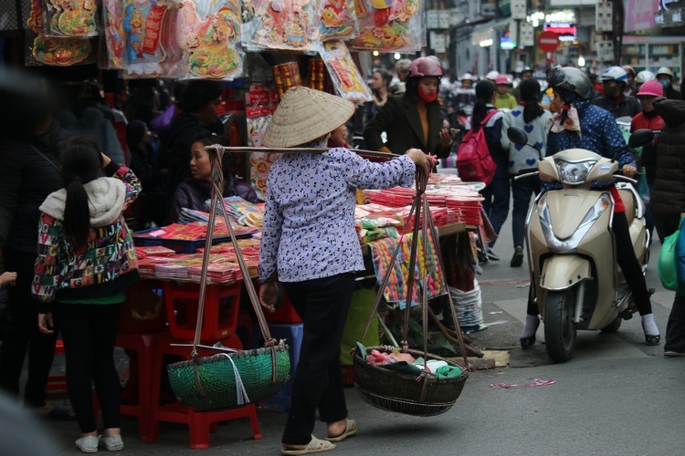
<svg viewBox="0 0 685 456">
<path fill-rule="evenodd" d="M 115 70 L 125 80 L 220 81 L 225 92 L 217 112 L 234 147 L 262 145 L 262 134 L 288 88 L 308 86 L 357 104 L 370 100 L 359 69 L 359 53 L 413 53 L 425 45 L 426 39 L 421 23 L 424 5 L 419 0 L 104 0 L 101 9 L 92 0 L 70 4 L 32 0 L 26 65 L 97 63 L 100 69 Z M 278 160 L 278 151 L 236 151 L 236 156 L 244 166 L 237 173 L 248 177 L 263 197 L 269 167 Z M 456 176 L 432 176 L 428 186 L 427 202 L 437 233 L 431 234 L 424 251 L 429 269 L 435 271 L 433 282 L 429 282 L 429 298 L 437 298 L 446 295 L 447 285 L 454 285 L 454 277 L 458 277 L 454 267 L 440 272 L 437 264 L 454 266 L 453 254 L 459 244 L 469 258 L 466 269 L 471 271 L 471 239 L 483 223 L 479 194 Z M 413 220 L 409 209 L 415 197 L 415 191 L 406 189 L 369 191 L 364 193 L 368 202 L 357 207 L 357 232 L 369 259 L 361 281 L 370 284 L 368 289 L 375 294 L 384 273 L 398 271 L 383 290 L 388 303 L 399 303 L 399 296 L 406 294 L 403 284 L 409 275 L 408 260 L 401 258 L 395 264 L 390 253 L 398 244 L 407 250 L 409 244 L 401 244 L 412 239 L 407 227 L 421 222 Z M 229 223 L 223 217 L 214 220 L 210 215 L 214 212 L 208 207 L 206 212 L 186 208 L 180 223 L 138 231 L 134 236 L 139 271 L 146 280 L 145 285 L 130 292 L 120 340 L 137 353 L 139 361 L 141 394 L 137 408 L 130 411 L 141 421 L 143 440 L 155 440 L 157 423 L 170 420 L 187 423 L 191 446 L 206 448 L 209 430 L 216 430 L 212 423 L 237 417 L 250 418 L 254 437 L 260 437 L 250 401 L 238 402 L 233 414 L 207 411 L 202 420 L 187 404 L 174 403 L 162 409 L 159 403 L 161 368 L 157 364 L 163 355 L 185 354 L 187 358 L 190 353 L 188 347 L 174 348 L 174 344 L 188 343 L 195 336 L 194 350 L 198 342 L 213 345 L 217 341 L 224 347 L 243 350 L 257 340 L 247 334 L 239 337 L 238 329 L 252 325 L 249 318 L 241 320 L 244 314 L 240 307 L 244 286 L 249 290 L 256 274 L 262 208 L 239 198 L 224 199 L 219 208 Z M 234 244 L 228 244 L 231 228 L 241 238 Z M 403 235 L 405 240 L 400 241 Z M 214 245 L 205 245 L 207 237 L 214 237 Z M 440 245 L 448 240 L 448 248 L 442 248 L 445 258 L 437 258 Z M 243 261 L 247 269 L 241 267 Z M 472 271 L 464 280 L 467 287 L 469 281 L 473 282 Z M 269 323 L 289 326 L 289 338 L 295 344 L 292 339 L 297 337 L 296 326 L 301 323 L 287 298 L 284 301 L 284 306 L 269 316 Z M 358 301 L 360 309 L 367 308 L 368 294 L 360 295 Z M 416 298 L 413 304 L 419 301 Z M 204 318 L 203 312 L 198 312 L 201 308 Z M 356 341 L 361 336 L 359 323 L 352 318 L 348 326 L 346 340 Z M 265 329 L 269 338 L 269 328 L 264 326 L 252 332 L 264 334 Z M 350 348 L 343 347 L 342 351 L 347 353 Z M 294 366 L 297 360 L 291 358 L 290 362 Z M 143 399 L 145 389 L 155 391 L 152 399 Z"/>
</svg>

